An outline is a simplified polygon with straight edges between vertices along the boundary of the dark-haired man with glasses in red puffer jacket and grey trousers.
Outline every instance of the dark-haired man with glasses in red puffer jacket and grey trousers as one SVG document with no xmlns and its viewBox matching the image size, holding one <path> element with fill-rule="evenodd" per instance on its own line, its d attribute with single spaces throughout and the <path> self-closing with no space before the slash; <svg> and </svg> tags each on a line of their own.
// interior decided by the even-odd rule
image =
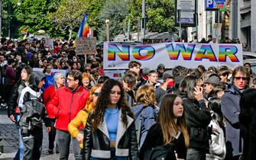
<svg viewBox="0 0 256 160">
<path fill-rule="evenodd" d="M 68 159 L 70 154 L 70 133 L 67 126 L 79 110 L 86 105 L 89 91 L 83 88 L 82 73 L 72 70 L 66 78 L 66 85 L 58 88 L 53 99 L 49 102 L 47 109 L 49 114 L 56 117 L 55 128 L 57 130 L 57 143 L 60 145 L 60 159 Z M 80 155 L 79 142 L 72 139 L 73 150 L 76 160 L 82 159 Z"/>
</svg>

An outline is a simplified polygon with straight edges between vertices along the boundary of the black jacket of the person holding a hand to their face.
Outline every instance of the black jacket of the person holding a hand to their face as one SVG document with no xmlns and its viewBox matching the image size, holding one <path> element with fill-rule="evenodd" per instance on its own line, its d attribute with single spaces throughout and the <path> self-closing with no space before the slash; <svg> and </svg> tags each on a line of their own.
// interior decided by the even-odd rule
<svg viewBox="0 0 256 160">
<path fill-rule="evenodd" d="M 190 134 L 190 147 L 209 152 L 208 125 L 212 120 L 209 109 L 204 101 L 190 101 L 184 94 L 181 97 Z"/>
</svg>

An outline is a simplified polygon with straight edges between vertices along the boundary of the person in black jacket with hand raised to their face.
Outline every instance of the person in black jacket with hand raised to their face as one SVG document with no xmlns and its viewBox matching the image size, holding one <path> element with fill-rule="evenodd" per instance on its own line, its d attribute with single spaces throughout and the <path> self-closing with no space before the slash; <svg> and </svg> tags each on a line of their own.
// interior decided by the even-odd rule
<svg viewBox="0 0 256 160">
<path fill-rule="evenodd" d="M 198 83 L 199 78 L 194 75 L 186 76 L 180 83 L 180 96 L 190 133 L 187 160 L 206 160 L 206 152 L 209 152 L 208 125 L 212 118 L 203 98 L 203 88 Z"/>
</svg>

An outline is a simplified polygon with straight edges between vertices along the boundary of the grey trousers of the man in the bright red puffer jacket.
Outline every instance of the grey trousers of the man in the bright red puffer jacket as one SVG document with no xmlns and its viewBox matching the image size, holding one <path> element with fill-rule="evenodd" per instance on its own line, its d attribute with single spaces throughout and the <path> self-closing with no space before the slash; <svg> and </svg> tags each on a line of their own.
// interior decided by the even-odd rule
<svg viewBox="0 0 256 160">
<path fill-rule="evenodd" d="M 79 147 L 79 142 L 75 138 L 71 138 L 71 135 L 68 131 L 56 130 L 57 133 L 57 143 L 60 149 L 60 159 L 67 160 L 70 155 L 70 141 L 72 139 L 73 151 L 76 160 L 81 160 L 81 149 Z"/>
</svg>

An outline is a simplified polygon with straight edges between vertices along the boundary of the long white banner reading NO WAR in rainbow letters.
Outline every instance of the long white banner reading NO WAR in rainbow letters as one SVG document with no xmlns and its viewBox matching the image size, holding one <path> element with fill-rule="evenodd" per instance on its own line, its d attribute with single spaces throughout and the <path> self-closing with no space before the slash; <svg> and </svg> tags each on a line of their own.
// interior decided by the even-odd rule
<svg viewBox="0 0 256 160">
<path fill-rule="evenodd" d="M 157 69 L 203 65 L 234 68 L 242 66 L 242 46 L 232 43 L 154 43 L 134 46 L 122 43 L 104 43 L 104 69 L 128 69 L 131 60 L 141 62 L 142 68 Z"/>
</svg>

